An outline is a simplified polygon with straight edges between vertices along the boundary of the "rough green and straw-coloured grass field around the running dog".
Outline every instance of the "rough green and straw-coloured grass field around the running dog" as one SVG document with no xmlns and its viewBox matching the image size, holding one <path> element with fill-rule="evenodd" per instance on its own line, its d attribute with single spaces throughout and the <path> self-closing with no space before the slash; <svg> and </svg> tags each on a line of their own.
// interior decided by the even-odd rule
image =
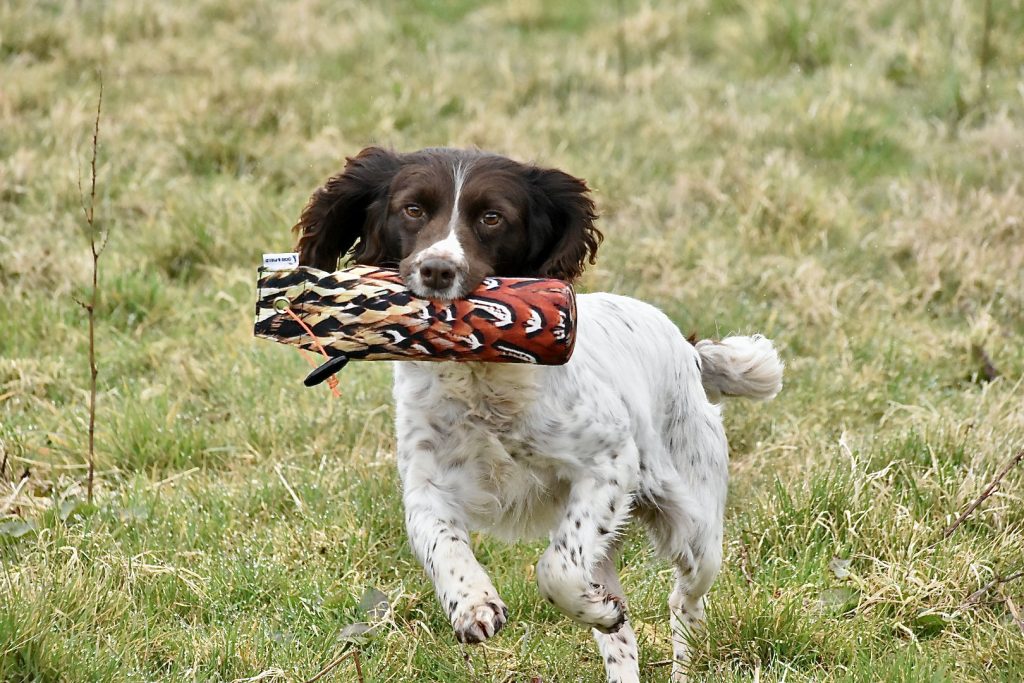
<svg viewBox="0 0 1024 683">
<path fill-rule="evenodd" d="M 511 620 L 460 647 L 406 546 L 388 366 L 333 400 L 252 339 L 260 254 L 370 143 L 586 177 L 583 289 L 777 341 L 782 394 L 726 412 L 696 678 L 1024 678 L 1024 580 L 968 599 L 1024 569 L 1024 466 L 942 538 L 1024 444 L 1024 4 L 986 4 L 0 0 L 0 680 L 302 681 L 345 648 L 368 682 L 603 680 L 539 544 L 474 540 Z M 635 529 L 623 575 L 667 680 Z"/>
</svg>

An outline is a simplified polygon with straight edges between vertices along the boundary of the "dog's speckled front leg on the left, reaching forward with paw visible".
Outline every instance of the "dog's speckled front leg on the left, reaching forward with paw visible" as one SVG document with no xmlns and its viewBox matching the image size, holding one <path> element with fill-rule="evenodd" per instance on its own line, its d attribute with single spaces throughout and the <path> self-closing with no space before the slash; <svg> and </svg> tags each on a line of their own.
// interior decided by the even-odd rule
<svg viewBox="0 0 1024 683">
<path fill-rule="evenodd" d="M 429 454 L 414 458 L 430 462 Z M 446 485 L 440 470 L 431 475 L 426 469 L 414 465 L 404 476 L 409 540 L 434 583 L 456 637 L 464 643 L 479 643 L 505 626 L 508 608 L 473 556 L 462 510 L 455 503 L 457 487 Z"/>
</svg>

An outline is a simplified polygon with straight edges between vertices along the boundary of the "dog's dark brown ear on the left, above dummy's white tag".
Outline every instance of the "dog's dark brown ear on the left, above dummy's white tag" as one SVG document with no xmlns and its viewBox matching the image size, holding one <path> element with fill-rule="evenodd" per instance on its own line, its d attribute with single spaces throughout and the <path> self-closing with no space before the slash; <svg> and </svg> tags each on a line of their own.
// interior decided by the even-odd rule
<svg viewBox="0 0 1024 683">
<path fill-rule="evenodd" d="M 313 193 L 292 227 L 302 265 L 334 270 L 353 245 L 356 262 L 376 264 L 386 257 L 383 205 L 401 161 L 393 152 L 367 147 L 345 162 L 344 171 Z"/>
</svg>

